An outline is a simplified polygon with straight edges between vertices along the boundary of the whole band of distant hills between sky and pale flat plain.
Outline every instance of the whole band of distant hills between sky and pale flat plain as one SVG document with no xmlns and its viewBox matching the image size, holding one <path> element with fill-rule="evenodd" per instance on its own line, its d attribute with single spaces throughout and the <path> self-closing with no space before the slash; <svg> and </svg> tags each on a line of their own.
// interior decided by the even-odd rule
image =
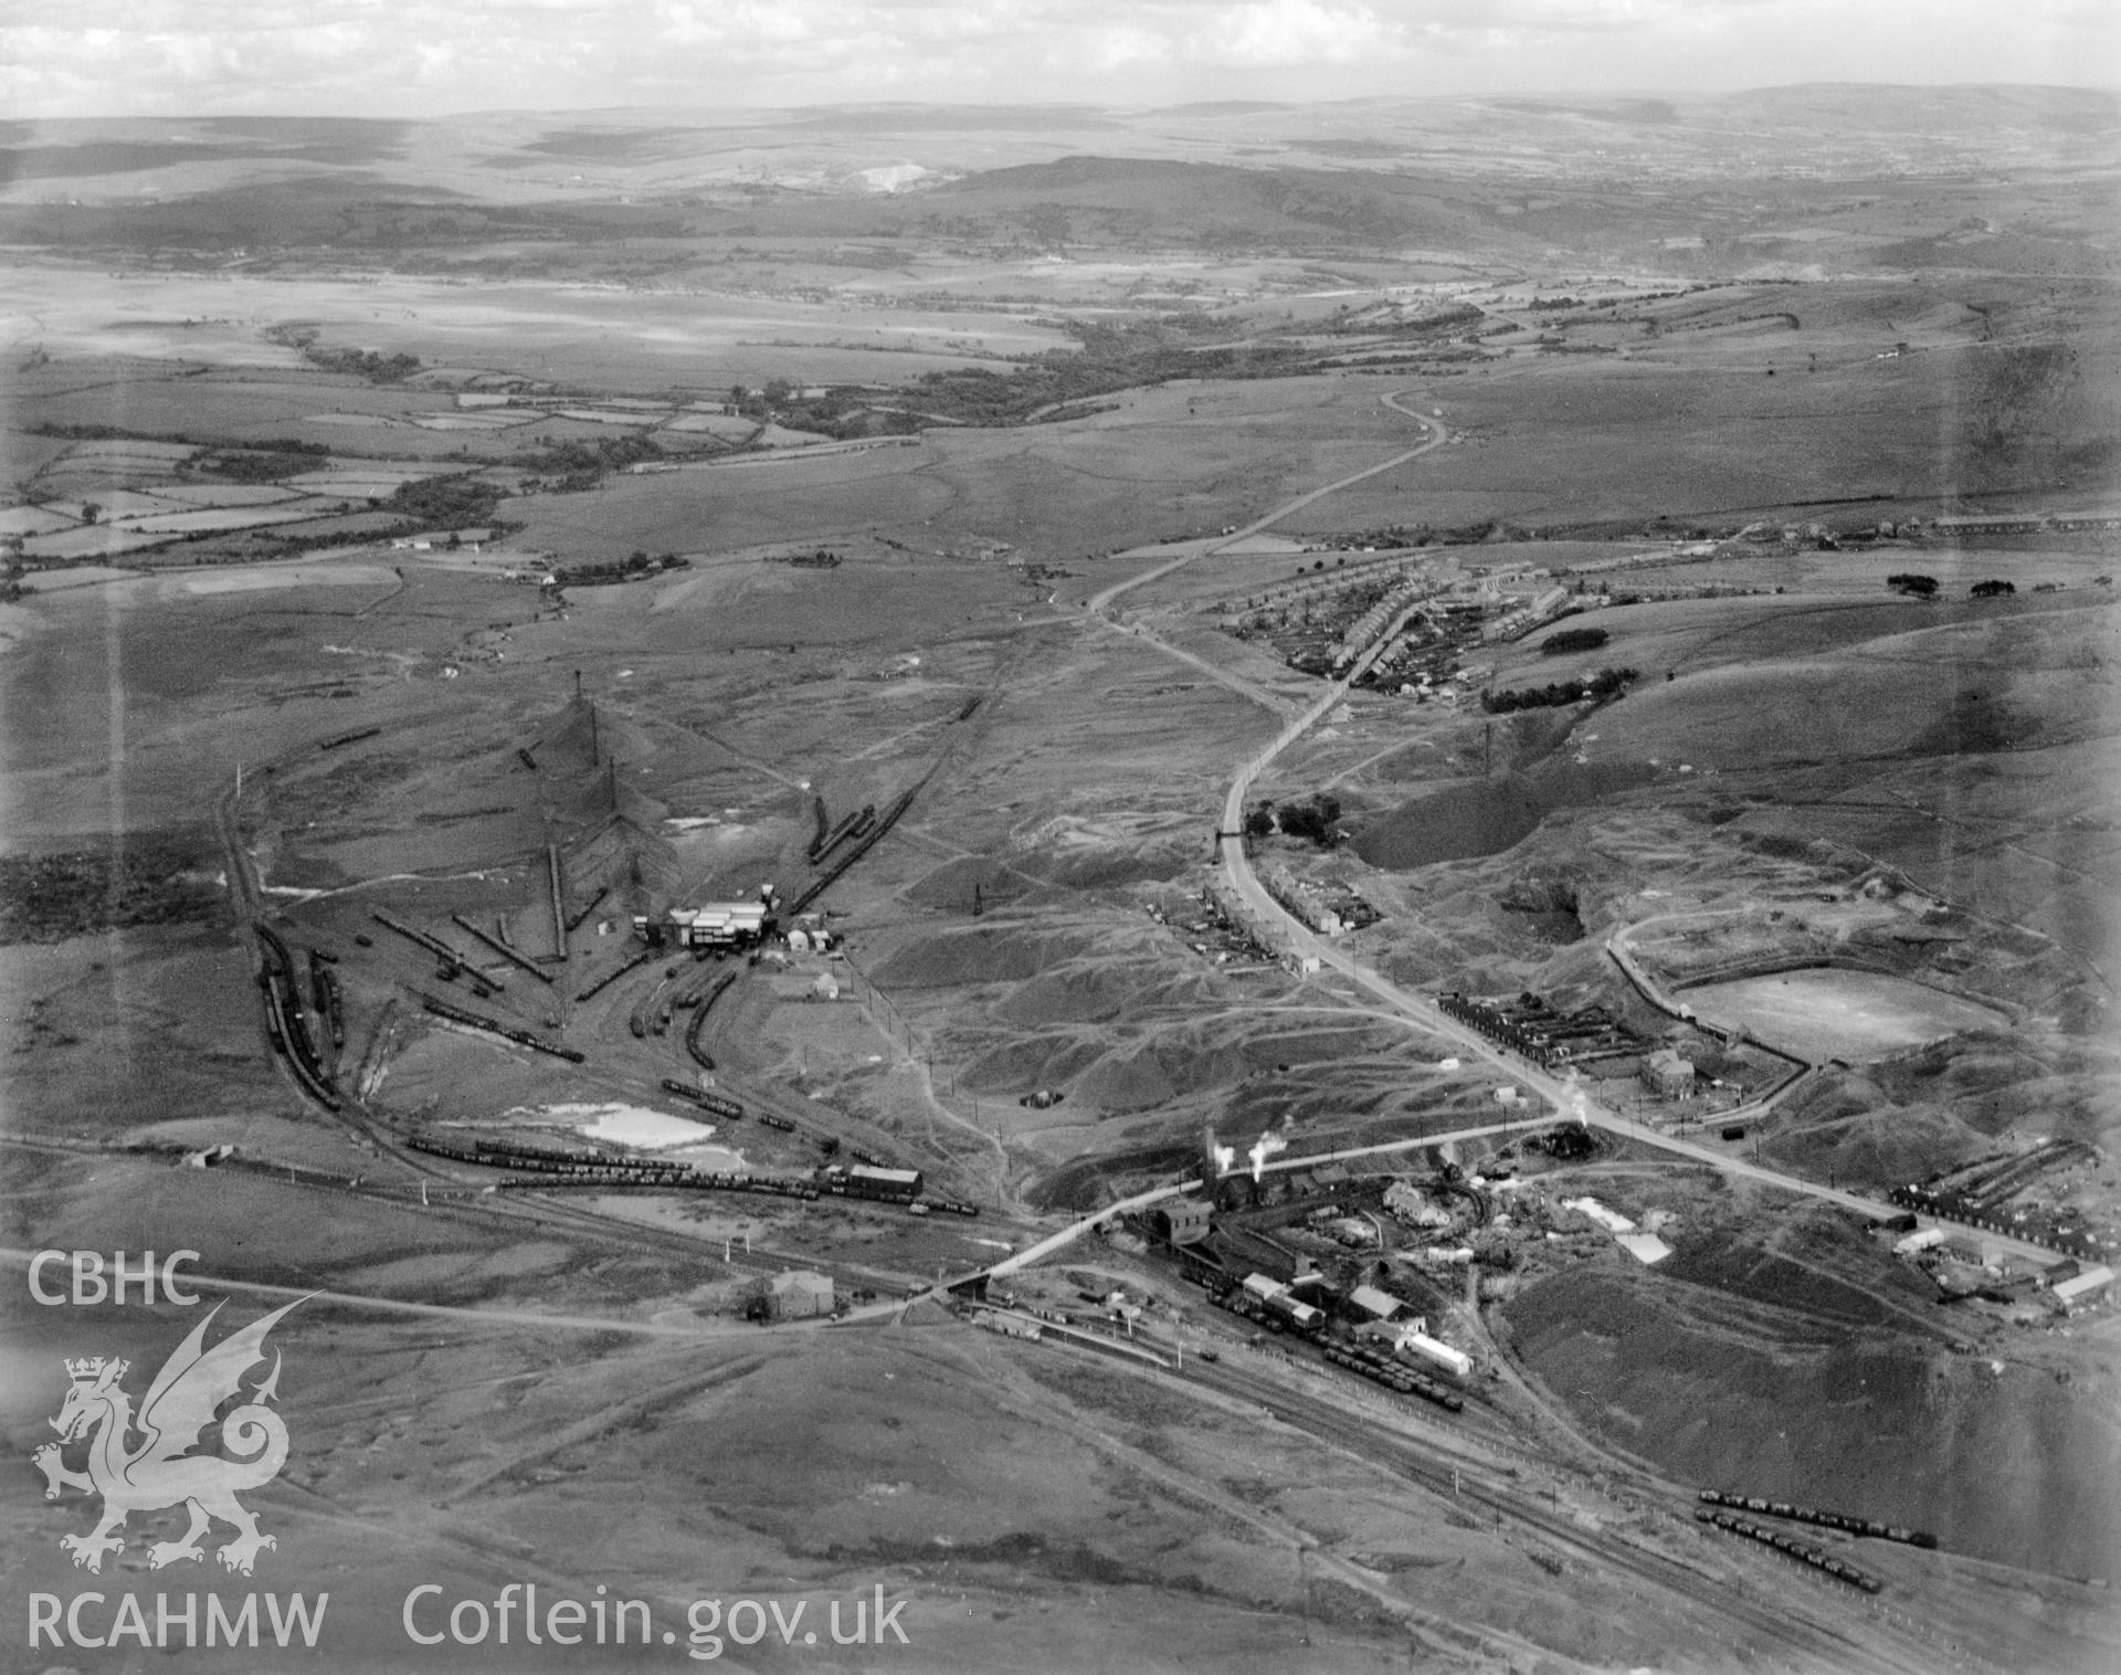
<svg viewBox="0 0 2121 1675">
<path fill-rule="evenodd" d="M 2110 269 L 2117 174 L 2121 95 L 2002 85 L 17 121 L 0 123 L 0 237 L 386 259 L 481 240 L 914 237 L 2089 278 Z"/>
</svg>

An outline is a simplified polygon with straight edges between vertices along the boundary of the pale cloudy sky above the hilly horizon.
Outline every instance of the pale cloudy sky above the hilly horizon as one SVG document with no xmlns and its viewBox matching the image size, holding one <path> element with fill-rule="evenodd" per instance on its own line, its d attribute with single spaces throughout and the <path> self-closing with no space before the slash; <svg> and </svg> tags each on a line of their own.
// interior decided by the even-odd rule
<svg viewBox="0 0 2121 1675">
<path fill-rule="evenodd" d="M 6 0 L 6 117 L 2121 83 L 2113 0 Z"/>
</svg>

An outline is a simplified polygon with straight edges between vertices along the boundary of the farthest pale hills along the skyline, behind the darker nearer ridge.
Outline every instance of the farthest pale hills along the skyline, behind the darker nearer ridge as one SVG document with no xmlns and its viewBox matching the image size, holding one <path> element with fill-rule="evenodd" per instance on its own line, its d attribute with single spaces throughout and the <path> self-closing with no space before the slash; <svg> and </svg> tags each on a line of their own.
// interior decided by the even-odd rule
<svg viewBox="0 0 2121 1675">
<path fill-rule="evenodd" d="M 935 174 L 976 174 L 1054 163 L 1084 151 L 1239 168 L 1266 165 L 1249 163 L 1251 157 L 1300 161 L 1311 151 L 1338 170 L 1389 172 L 1396 163 L 1419 163 L 1453 178 L 1523 176 L 1540 168 L 1572 178 L 1701 168 L 1858 176 L 1943 172 L 1981 157 L 2113 165 L 2121 161 L 2121 93 L 1809 83 L 1718 95 L 1222 100 L 1154 110 L 861 104 L 490 112 L 431 123 L 81 119 L 4 123 L 0 146 L 4 178 L 17 182 L 157 174 L 201 161 L 248 161 L 257 172 L 282 176 L 397 161 L 407 184 L 458 184 L 435 176 L 484 174 L 501 195 L 520 189 L 520 178 L 509 178 L 518 168 L 539 161 L 594 163 L 598 184 L 613 189 L 685 191 L 734 180 L 817 187 L 834 170 L 846 174 L 901 161 Z M 1224 155 L 1215 155 L 1217 148 Z"/>
</svg>

